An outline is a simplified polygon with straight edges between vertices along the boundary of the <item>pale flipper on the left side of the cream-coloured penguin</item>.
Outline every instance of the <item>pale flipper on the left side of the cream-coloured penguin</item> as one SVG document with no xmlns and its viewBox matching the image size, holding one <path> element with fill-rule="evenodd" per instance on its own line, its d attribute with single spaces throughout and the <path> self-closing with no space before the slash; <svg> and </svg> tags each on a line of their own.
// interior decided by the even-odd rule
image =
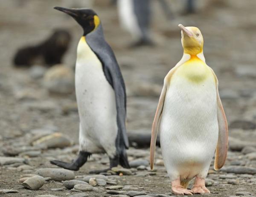
<svg viewBox="0 0 256 197">
<path fill-rule="evenodd" d="M 157 128 L 158 123 L 163 111 L 163 103 L 166 97 L 166 85 L 163 86 L 160 99 L 157 105 L 157 111 L 154 117 L 152 129 L 151 129 L 151 143 L 150 143 L 150 168 L 153 170 L 154 168 L 154 154 L 156 149 L 156 141 L 157 141 Z"/>
</svg>

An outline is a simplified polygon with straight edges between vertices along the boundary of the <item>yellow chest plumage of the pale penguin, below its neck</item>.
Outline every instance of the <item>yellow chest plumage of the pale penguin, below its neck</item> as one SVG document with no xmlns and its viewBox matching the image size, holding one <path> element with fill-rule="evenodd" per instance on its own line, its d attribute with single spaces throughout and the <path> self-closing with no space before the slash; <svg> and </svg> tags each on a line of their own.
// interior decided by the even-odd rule
<svg viewBox="0 0 256 197">
<path fill-rule="evenodd" d="M 211 70 L 201 59 L 196 55 L 191 55 L 191 58 L 183 63 L 175 72 L 177 77 L 184 77 L 193 83 L 204 82 L 208 77 L 213 77 Z"/>
</svg>

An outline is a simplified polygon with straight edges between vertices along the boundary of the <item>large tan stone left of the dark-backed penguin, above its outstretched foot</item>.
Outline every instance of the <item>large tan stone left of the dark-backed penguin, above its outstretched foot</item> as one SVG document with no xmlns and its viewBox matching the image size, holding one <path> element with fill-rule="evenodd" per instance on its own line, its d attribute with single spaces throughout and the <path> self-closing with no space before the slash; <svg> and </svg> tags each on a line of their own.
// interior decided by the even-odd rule
<svg viewBox="0 0 256 197">
<path fill-rule="evenodd" d="M 72 144 L 73 142 L 70 140 L 70 137 L 62 133 L 49 134 L 32 142 L 33 146 L 44 145 L 47 148 L 64 148 Z"/>
</svg>

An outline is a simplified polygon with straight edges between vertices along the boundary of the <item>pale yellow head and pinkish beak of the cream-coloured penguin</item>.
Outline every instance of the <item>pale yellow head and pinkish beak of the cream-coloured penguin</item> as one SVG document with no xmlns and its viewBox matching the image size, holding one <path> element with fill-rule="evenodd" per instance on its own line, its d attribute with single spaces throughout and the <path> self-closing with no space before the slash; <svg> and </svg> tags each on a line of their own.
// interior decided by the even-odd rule
<svg viewBox="0 0 256 197">
<path fill-rule="evenodd" d="M 179 24 L 181 29 L 181 43 L 184 53 L 196 55 L 203 51 L 204 38 L 197 27 L 184 27 Z"/>
</svg>

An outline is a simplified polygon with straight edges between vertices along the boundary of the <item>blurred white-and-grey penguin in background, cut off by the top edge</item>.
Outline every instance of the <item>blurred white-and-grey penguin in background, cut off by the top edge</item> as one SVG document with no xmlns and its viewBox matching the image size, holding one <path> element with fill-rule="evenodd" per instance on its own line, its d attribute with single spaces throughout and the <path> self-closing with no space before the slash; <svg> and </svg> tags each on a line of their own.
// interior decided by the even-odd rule
<svg viewBox="0 0 256 197">
<path fill-rule="evenodd" d="M 151 0 L 117 0 L 119 20 L 135 43 L 131 47 L 152 46 L 150 36 Z"/>
</svg>

